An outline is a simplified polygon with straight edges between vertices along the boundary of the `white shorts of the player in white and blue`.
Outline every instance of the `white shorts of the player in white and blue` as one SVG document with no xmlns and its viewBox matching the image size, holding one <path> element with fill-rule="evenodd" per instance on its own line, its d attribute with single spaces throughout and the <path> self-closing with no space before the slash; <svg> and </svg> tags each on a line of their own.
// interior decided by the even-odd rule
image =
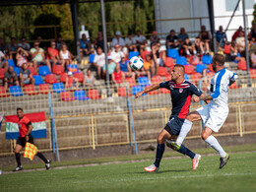
<svg viewBox="0 0 256 192">
<path fill-rule="evenodd" d="M 228 115 L 228 106 L 221 107 L 209 103 L 198 108 L 197 112 L 200 114 L 205 126 L 209 127 L 214 132 L 219 132 Z"/>
</svg>

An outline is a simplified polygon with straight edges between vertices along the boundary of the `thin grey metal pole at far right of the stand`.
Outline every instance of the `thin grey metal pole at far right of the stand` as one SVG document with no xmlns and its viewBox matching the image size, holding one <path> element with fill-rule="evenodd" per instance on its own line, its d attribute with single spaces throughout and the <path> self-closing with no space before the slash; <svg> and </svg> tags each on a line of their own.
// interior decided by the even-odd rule
<svg viewBox="0 0 256 192">
<path fill-rule="evenodd" d="M 251 87 L 250 79 L 250 61 L 249 61 L 249 52 L 248 52 L 248 38 L 247 38 L 247 22 L 245 15 L 245 1 L 242 0 L 242 15 L 243 15 L 243 28 L 244 28 L 244 39 L 245 39 L 245 59 L 247 64 L 247 76 L 248 76 L 248 87 Z"/>
</svg>

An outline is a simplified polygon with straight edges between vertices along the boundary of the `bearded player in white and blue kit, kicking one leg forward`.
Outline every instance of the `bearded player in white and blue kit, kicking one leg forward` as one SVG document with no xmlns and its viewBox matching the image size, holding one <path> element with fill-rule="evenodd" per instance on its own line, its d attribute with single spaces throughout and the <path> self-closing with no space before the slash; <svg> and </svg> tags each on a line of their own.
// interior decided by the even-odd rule
<svg viewBox="0 0 256 192">
<path fill-rule="evenodd" d="M 219 153 L 221 157 L 220 168 L 223 168 L 229 156 L 224 152 L 223 147 L 212 133 L 213 131 L 219 132 L 228 115 L 228 87 L 235 82 L 237 75 L 224 68 L 224 55 L 222 54 L 214 55 L 212 66 L 216 74 L 211 80 L 210 96 L 195 96 L 192 98 L 195 102 L 200 100 L 211 101 L 186 116 L 176 143 L 172 144 L 176 147 L 181 146 L 193 122 L 202 119 L 205 125 L 202 131 L 202 139 Z"/>
</svg>

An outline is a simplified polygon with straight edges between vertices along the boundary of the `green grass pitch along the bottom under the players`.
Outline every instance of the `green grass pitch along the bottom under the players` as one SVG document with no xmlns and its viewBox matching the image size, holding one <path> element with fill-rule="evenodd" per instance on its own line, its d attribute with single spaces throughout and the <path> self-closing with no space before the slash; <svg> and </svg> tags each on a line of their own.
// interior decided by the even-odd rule
<svg viewBox="0 0 256 192">
<path fill-rule="evenodd" d="M 163 159 L 160 172 L 145 172 L 143 168 L 153 162 L 152 158 L 151 161 L 3 174 L 0 188 L 1 191 L 256 191 L 255 145 L 244 149 L 252 152 L 237 150 L 223 169 L 219 169 L 219 156 L 203 156 L 197 170 L 191 169 L 189 158 L 182 157 Z M 209 152 L 213 153 L 207 149 L 205 154 Z M 142 158 L 139 156 L 137 160 Z"/>
</svg>

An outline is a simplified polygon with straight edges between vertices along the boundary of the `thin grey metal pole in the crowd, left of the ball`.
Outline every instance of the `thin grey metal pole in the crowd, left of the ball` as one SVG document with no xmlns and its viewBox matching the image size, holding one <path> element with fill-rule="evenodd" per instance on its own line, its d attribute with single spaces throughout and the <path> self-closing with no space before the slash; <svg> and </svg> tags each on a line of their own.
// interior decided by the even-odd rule
<svg viewBox="0 0 256 192">
<path fill-rule="evenodd" d="M 105 29 L 105 9 L 104 9 L 104 0 L 100 0 L 101 6 L 101 17 L 102 17 L 102 28 L 103 28 L 103 41 L 104 41 L 104 51 L 105 51 L 105 72 L 106 72 L 106 84 L 107 84 L 107 93 L 109 87 L 109 74 L 108 74 L 108 62 L 107 62 L 107 46 L 106 46 L 106 29 Z M 107 94 L 108 96 L 108 94 Z"/>
</svg>

